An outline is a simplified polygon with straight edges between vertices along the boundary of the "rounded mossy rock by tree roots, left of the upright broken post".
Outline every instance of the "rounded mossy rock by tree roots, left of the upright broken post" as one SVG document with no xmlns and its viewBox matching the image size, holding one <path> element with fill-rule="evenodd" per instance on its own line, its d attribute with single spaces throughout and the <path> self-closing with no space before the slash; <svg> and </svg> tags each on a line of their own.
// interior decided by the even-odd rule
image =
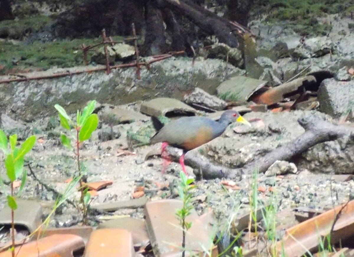
<svg viewBox="0 0 354 257">
<path fill-rule="evenodd" d="M 224 43 L 215 43 L 213 44 L 207 52 L 207 58 L 217 58 L 226 61 L 227 55 L 229 56 L 230 64 L 235 67 L 242 67 L 243 59 L 242 53 L 237 48 L 229 47 Z"/>
</svg>

